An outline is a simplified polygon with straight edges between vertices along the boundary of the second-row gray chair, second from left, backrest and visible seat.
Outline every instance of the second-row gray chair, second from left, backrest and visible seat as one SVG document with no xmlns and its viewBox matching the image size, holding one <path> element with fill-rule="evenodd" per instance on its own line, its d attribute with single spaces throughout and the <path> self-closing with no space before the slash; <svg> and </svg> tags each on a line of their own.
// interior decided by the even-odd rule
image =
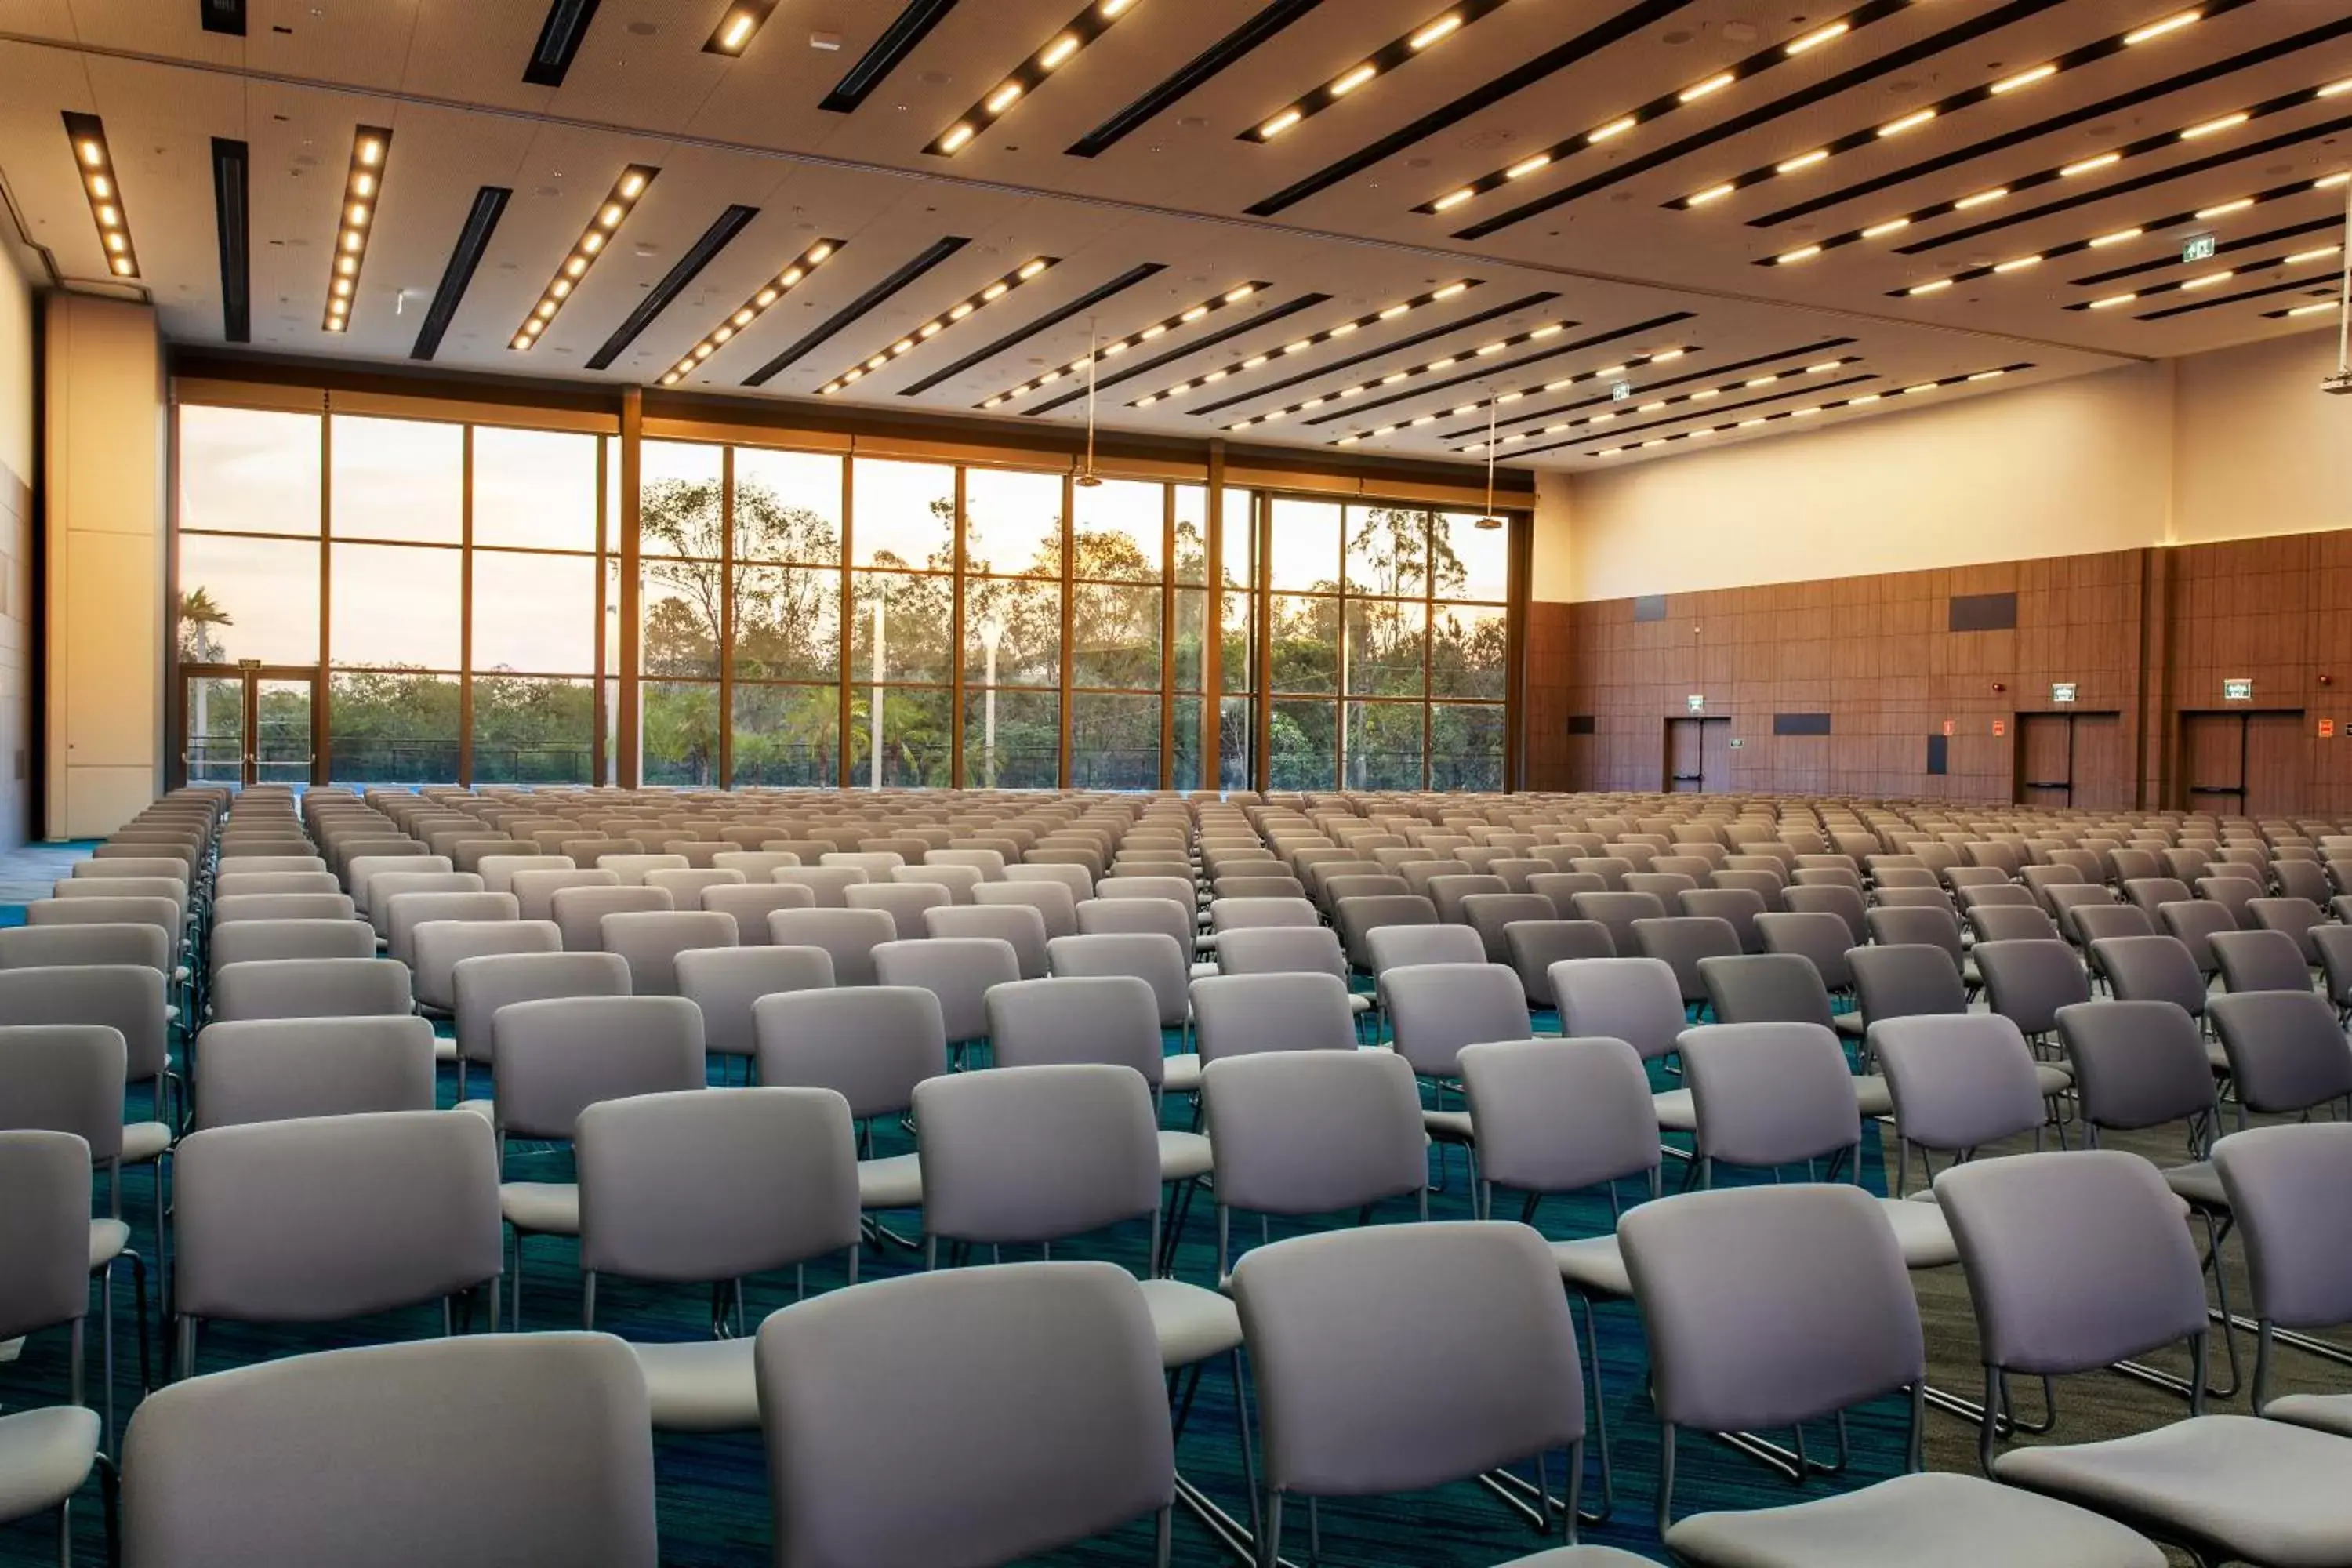
<svg viewBox="0 0 2352 1568">
<path fill-rule="evenodd" d="M 661 1432 L 757 1432 L 743 1281 L 842 1253 L 858 1279 L 858 1152 L 830 1088 L 691 1088 L 602 1100 L 574 1135 L 581 1328 L 597 1276 L 729 1286 L 734 1335 L 630 1342 Z M 795 1291 L 797 1295 L 797 1291 Z"/>
</svg>

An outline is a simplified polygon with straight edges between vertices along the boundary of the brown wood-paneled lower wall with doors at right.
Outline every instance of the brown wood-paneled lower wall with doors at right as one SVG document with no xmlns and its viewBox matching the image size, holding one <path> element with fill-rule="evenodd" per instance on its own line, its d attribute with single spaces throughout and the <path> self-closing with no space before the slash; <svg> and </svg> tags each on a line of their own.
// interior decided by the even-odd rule
<svg viewBox="0 0 2352 1568">
<path fill-rule="evenodd" d="M 1992 592 L 2016 592 L 2013 630 L 1950 630 L 1955 595 Z M 2185 804 L 2180 715 L 2263 710 L 2300 736 L 2263 809 L 2352 813 L 2352 534 L 1686 592 L 1656 621 L 1635 604 L 1529 607 L 1529 788 L 1663 788 L 1665 724 L 1696 693 L 1733 719 L 1733 790 L 2011 802 L 2018 717 L 2058 712 L 2051 684 L 2072 682 L 2077 715 L 2122 715 L 2138 804 Z M 2253 701 L 2225 703 L 2239 677 Z M 1830 733 L 1776 736 L 1788 712 L 1828 712 Z"/>
</svg>

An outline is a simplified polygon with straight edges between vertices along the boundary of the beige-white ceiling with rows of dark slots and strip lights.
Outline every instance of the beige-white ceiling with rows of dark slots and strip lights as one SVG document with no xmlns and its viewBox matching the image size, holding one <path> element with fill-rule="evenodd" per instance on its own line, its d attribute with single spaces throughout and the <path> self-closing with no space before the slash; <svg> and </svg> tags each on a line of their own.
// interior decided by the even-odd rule
<svg viewBox="0 0 2352 1568">
<path fill-rule="evenodd" d="M 536 87 L 522 71 L 546 19 L 543 0 L 252 0 L 245 38 L 200 31 L 198 0 L 0 0 L 0 176 L 26 237 L 54 273 L 103 280 L 103 254 L 59 113 L 103 118 L 141 263 L 139 284 L 158 303 L 165 331 L 181 343 L 223 341 L 209 141 L 226 136 L 252 148 L 252 346 L 259 350 L 407 362 L 482 186 L 510 188 L 513 200 L 435 355 L 447 369 L 656 383 L 818 237 L 844 247 L 710 355 L 687 386 L 811 397 L 1030 256 L 1058 263 L 828 402 L 967 414 L 1082 357 L 1089 317 L 1103 339 L 1115 339 L 1251 280 L 1268 287 L 1108 360 L 1105 378 L 1176 355 L 1164 369 L 1105 388 L 1103 423 L 1214 435 L 1397 369 L 1463 357 L 1446 371 L 1310 414 L 1294 411 L 1237 437 L 1324 447 L 1355 435 L 1357 451 L 1449 456 L 1470 451 L 1486 418 L 1484 411 L 1446 416 L 1449 409 L 1486 395 L 1534 393 L 1637 355 L 1686 350 L 1670 364 L 1625 371 L 1632 404 L 1609 409 L 1606 381 L 1585 381 L 1501 409 L 1501 418 L 1519 421 L 1505 423 L 1505 435 L 1522 435 L 1505 447 L 1505 461 L 1559 468 L 1592 465 L 1609 444 L 1630 447 L 1616 461 L 1665 456 L 1679 442 L 1656 451 L 1639 442 L 1924 381 L 1950 381 L 1940 397 L 1999 395 L 2006 386 L 2131 357 L 2333 324 L 2328 317 L 2265 315 L 2310 303 L 2300 287 L 2237 299 L 2281 282 L 2321 289 L 2333 280 L 2333 259 L 2241 270 L 2209 289 L 2150 294 L 2100 313 L 2067 308 L 2343 237 L 2328 226 L 2331 214 L 2343 212 L 2343 190 L 2310 190 L 2312 181 L 2352 169 L 2352 132 L 2324 129 L 2352 122 L 2352 92 L 2331 99 L 2314 92 L 2352 80 L 2352 14 L 2328 0 L 2223 0 L 2194 26 L 2065 63 L 2049 80 L 1952 108 L 1917 129 L 1863 136 L 1865 146 L 1762 179 L 1700 209 L 1679 202 L 1839 136 L 1872 132 L 1924 103 L 2044 61 L 2072 61 L 2074 52 L 2178 7 L 2166 0 L 1863 0 L 1860 7 L 1844 0 L 1778 7 L 1764 0 L 1505 0 L 1329 101 L 1272 143 L 1242 139 L 1284 103 L 1446 14 L 1439 0 L 1324 0 L 1098 158 L 1070 155 L 1063 148 L 1268 5 L 1131 0 L 1096 42 L 950 160 L 924 148 L 1070 26 L 1082 0 L 962 0 L 856 113 L 818 108 L 901 5 L 779 0 L 743 56 L 727 59 L 703 52 L 727 0 L 602 0 L 564 85 Z M 1846 35 L 1785 56 L 1785 42 L 1837 19 L 1849 19 Z M 1592 28 L 1621 28 L 1623 38 L 1519 92 L 1494 94 L 1428 134 L 1397 136 Z M 2331 35 L 2305 38 L 2314 31 Z M 1973 35 L 1955 40 L 1955 33 Z M 840 47 L 811 47 L 818 35 L 837 38 Z M 1646 118 L 1604 146 L 1564 155 L 1510 181 L 1508 190 L 1446 214 L 1416 212 L 1465 181 L 1576 141 L 1644 103 L 1672 103 L 1684 87 L 1755 59 L 1773 63 L 1696 103 Z M 1856 80 L 1842 82 L 1846 75 Z M 2204 80 L 2178 85 L 2183 75 Z M 2110 103 L 2114 99 L 2124 101 Z M 2096 106 L 2105 108 L 2077 113 Z M 2256 106 L 2270 108 L 2246 125 L 2192 141 L 2178 136 L 2178 129 Z M 2049 125 L 2067 115 L 2079 122 Z M 390 127 L 393 143 L 353 327 L 329 334 L 320 322 L 358 125 Z M 1268 209 L 1275 193 L 1385 136 L 1397 139 L 1385 155 L 1362 160 L 1329 188 L 1279 205 L 1279 212 Z M 2002 141 L 2009 146 L 1985 150 Z M 2140 143 L 2157 146 L 2112 167 L 2020 188 L 1969 214 L 1924 216 L 1898 237 L 1837 244 L 1792 266 L 1757 266 L 1889 216 Z M 2256 150 L 2265 143 L 2277 146 Z M 1658 158 L 1661 150 L 1672 153 Z M 1653 167 L 1613 176 L 1642 160 Z M 1950 167 L 1915 172 L 1926 160 Z M 2213 160 L 2216 167 L 2183 172 Z M 527 353 L 508 348 L 630 162 L 661 174 L 541 341 Z M 1903 179 L 1853 190 L 1891 174 Z M 2136 188 L 2114 193 L 2117 186 Z M 2053 256 L 1929 296 L 1903 294 L 1959 268 L 1990 268 L 2281 188 L 2291 190 L 2211 221 L 2150 228 L 2100 252 Z M 1576 200 L 1524 221 L 1477 230 L 1519 202 L 1578 190 Z M 2077 205 L 2084 193 L 2093 200 Z M 1757 226 L 1764 214 L 1820 195 L 1837 200 Z M 2053 200 L 2070 207 L 2013 221 Z M 644 292 L 736 202 L 760 214 L 612 369 L 583 369 Z M 1987 221 L 1999 226 L 1966 242 L 1936 244 Z M 2192 230 L 2216 233 L 2223 254 L 2183 266 L 2180 240 Z M 2274 230 L 2298 233 L 2260 240 Z M 969 244 L 764 388 L 741 386 L 786 343 L 943 235 L 969 237 Z M 1898 244 L 1924 249 L 1903 254 Z M 906 395 L 913 383 L 1145 263 L 1160 268 L 1145 282 Z M 2082 282 L 2143 263 L 2145 270 L 2126 280 Z M 1235 371 L 1214 390 L 1131 407 L 1143 393 L 1279 350 L 1454 280 L 1477 280 L 1477 287 Z M 1254 315 L 1303 294 L 1329 299 L 1249 327 Z M 1550 299 L 1536 299 L 1543 294 Z M 1529 303 L 1503 310 L 1515 301 Z M 2140 320 L 2171 306 L 2201 308 Z M 1677 313 L 1682 320 L 1663 322 Z M 1484 343 L 1550 322 L 1573 324 L 1475 357 Z M 1242 331 L 1185 353 L 1235 327 Z M 1583 339 L 1604 341 L 1555 353 Z M 1844 343 L 1820 348 L 1837 341 Z M 1853 362 L 1802 374 L 1832 357 Z M 2011 374 L 1997 388 L 1966 383 L 1999 367 Z M 1773 371 L 1799 374 L 1769 388 L 1743 386 Z M 1813 390 L 1830 381 L 1842 386 Z M 1268 390 L 1275 383 L 1287 386 Z M 1065 378 L 988 418 L 1082 418 L 1082 400 L 1030 414 L 1070 386 Z M 1731 390 L 1637 411 L 1642 402 L 1710 388 Z M 1590 402 L 1595 397 L 1599 402 Z M 1223 409 L 1202 411 L 1228 400 Z M 1378 400 L 1390 402 L 1369 407 Z M 1872 418 L 1907 402 L 1915 400 L 1830 407 L 1797 423 L 1773 418 L 1712 440 Z M 1529 418 L 1557 404 L 1590 407 Z M 1731 404 L 1752 407 L 1729 411 Z M 1616 418 L 1543 435 L 1550 423 L 1595 411 Z M 1338 418 L 1315 423 L 1331 414 Z M 1428 414 L 1439 418 L 1411 423 Z M 1385 423 L 1399 428 L 1371 435 Z"/>
</svg>

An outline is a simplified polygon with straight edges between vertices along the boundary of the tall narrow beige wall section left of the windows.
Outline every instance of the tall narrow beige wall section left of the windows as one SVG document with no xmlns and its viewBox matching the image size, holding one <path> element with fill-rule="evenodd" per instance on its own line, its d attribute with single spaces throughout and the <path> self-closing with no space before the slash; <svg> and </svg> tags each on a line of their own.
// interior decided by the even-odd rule
<svg viewBox="0 0 2352 1568">
<path fill-rule="evenodd" d="M 78 294 L 45 306 L 42 832 L 87 839 L 162 790 L 162 341 L 146 306 Z"/>
</svg>

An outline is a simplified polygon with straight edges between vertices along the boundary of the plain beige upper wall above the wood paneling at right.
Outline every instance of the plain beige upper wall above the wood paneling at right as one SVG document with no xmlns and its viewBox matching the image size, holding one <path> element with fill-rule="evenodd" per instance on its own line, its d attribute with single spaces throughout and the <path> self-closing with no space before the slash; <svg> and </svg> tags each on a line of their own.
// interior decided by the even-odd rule
<svg viewBox="0 0 2352 1568">
<path fill-rule="evenodd" d="M 2352 397 L 2307 331 L 1538 489 L 1536 599 L 1616 599 L 2352 527 Z M 1557 498 L 1552 484 L 1559 487 Z M 1573 522 L 1571 522 L 1573 517 Z"/>
</svg>

